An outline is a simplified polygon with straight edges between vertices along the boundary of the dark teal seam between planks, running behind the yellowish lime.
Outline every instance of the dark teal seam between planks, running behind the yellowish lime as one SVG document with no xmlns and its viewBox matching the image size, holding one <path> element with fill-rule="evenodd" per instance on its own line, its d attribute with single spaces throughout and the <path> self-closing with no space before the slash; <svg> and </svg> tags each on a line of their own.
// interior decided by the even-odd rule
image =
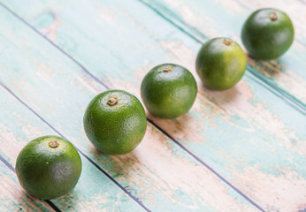
<svg viewBox="0 0 306 212">
<path fill-rule="evenodd" d="M 177 27 L 182 33 L 187 34 L 187 36 L 189 36 L 190 38 L 195 40 L 195 42 L 199 42 L 199 43 L 202 44 L 203 43 L 202 40 L 209 40 L 210 39 L 210 37 L 201 33 L 195 27 L 188 26 L 181 19 L 174 18 L 174 19 L 176 19 L 176 21 L 175 21 L 172 18 L 164 15 L 164 14 L 168 14 L 170 12 L 159 11 L 159 9 L 157 7 L 158 6 L 163 7 L 162 5 L 156 5 L 157 3 L 155 3 L 155 5 L 149 4 L 149 3 L 146 2 L 147 0 L 138 0 L 138 1 L 140 3 L 142 3 L 143 5 L 147 6 L 150 10 L 155 11 L 157 13 L 157 15 L 161 16 L 163 19 L 168 21 L 170 24 L 172 24 L 172 26 Z M 161 9 L 161 10 L 163 10 L 163 9 Z M 166 10 L 170 11 L 168 9 L 166 9 Z M 177 23 L 177 22 L 179 22 L 179 23 Z M 196 35 L 199 38 L 197 38 L 196 35 L 187 32 L 187 30 L 185 28 L 190 29 L 192 32 L 195 31 Z M 272 85 L 272 83 L 270 83 L 267 79 L 265 79 L 263 76 L 261 76 L 260 73 L 258 73 L 256 71 L 256 69 L 253 68 L 250 64 L 247 65 L 247 71 L 249 71 L 249 73 L 251 73 L 251 75 L 253 77 L 255 77 L 256 79 L 259 79 L 259 81 L 263 82 L 263 83 L 261 83 L 258 80 L 252 78 L 256 83 L 258 83 L 259 85 L 269 89 L 274 95 L 278 95 L 288 105 L 293 107 L 295 110 L 298 110 L 299 112 L 301 112 L 302 115 L 306 115 L 306 105 L 304 103 L 302 103 L 301 101 L 299 101 L 297 98 L 295 98 L 295 96 L 292 96 L 292 95 L 288 94 L 287 91 L 285 91 L 284 89 L 282 89 L 282 88 L 280 88 L 276 85 Z"/>
</svg>

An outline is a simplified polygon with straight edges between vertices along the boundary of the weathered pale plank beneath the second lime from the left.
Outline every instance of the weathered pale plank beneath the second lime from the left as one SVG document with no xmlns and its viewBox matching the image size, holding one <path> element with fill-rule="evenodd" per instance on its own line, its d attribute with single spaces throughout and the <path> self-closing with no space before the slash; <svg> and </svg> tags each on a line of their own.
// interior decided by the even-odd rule
<svg viewBox="0 0 306 212">
<path fill-rule="evenodd" d="M 0 68 L 4 71 L 0 79 L 149 209 L 258 210 L 153 125 L 149 125 L 142 144 L 132 153 L 119 156 L 98 153 L 82 130 L 82 116 L 89 100 L 105 88 L 9 12 L 2 8 L 0 11 L 4 22 L 0 27 L 4 32 L 0 45 L 9 47 L 0 57 Z M 92 171 L 84 172 L 93 175 Z M 102 187 L 97 180 L 94 183 L 97 189 Z M 86 187 L 87 182 L 78 185 Z M 93 201 L 92 204 L 98 204 L 96 199 Z"/>
</svg>

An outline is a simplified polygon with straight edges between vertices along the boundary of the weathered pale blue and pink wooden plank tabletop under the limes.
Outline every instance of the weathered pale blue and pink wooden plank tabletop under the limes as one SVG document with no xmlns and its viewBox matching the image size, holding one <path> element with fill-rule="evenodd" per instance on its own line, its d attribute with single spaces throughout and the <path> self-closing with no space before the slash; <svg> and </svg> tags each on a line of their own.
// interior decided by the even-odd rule
<svg viewBox="0 0 306 212">
<path fill-rule="evenodd" d="M 195 73 L 201 44 L 241 43 L 251 11 L 276 7 L 295 24 L 278 60 L 248 59 L 224 92 Z M 0 211 L 306 211 L 306 2 L 304 0 L 1 0 Z M 102 155 L 82 117 L 94 95 L 118 88 L 140 97 L 157 64 L 194 73 L 199 93 L 187 115 L 148 114 L 132 153 Z M 35 137 L 56 134 L 79 149 L 72 193 L 51 201 L 19 186 L 14 164 Z"/>
</svg>

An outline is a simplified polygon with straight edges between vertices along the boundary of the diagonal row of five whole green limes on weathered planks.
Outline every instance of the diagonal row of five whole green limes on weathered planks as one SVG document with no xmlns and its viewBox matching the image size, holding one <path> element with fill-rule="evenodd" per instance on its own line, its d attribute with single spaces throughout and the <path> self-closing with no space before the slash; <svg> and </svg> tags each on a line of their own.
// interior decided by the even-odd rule
<svg viewBox="0 0 306 212">
<path fill-rule="evenodd" d="M 289 49 L 294 40 L 294 27 L 284 12 L 262 9 L 246 20 L 241 38 L 251 56 L 272 59 Z M 203 44 L 195 64 L 206 87 L 224 90 L 242 78 L 247 58 L 236 42 L 215 38 Z M 142 101 L 156 117 L 180 117 L 192 107 L 196 93 L 195 78 L 178 64 L 157 65 L 142 80 Z M 122 90 L 96 95 L 84 115 L 88 139 L 104 154 L 129 153 L 142 141 L 146 128 L 142 103 Z M 21 186 L 41 199 L 69 193 L 77 184 L 80 171 L 77 150 L 68 140 L 57 136 L 30 141 L 16 162 Z"/>
</svg>

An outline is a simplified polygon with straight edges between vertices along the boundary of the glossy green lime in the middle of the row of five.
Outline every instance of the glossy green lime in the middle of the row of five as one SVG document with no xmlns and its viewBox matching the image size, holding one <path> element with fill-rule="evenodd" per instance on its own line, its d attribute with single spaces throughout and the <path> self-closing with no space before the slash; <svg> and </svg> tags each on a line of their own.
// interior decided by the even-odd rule
<svg viewBox="0 0 306 212">
<path fill-rule="evenodd" d="M 171 71 L 164 71 L 167 67 Z M 156 117 L 175 118 L 187 113 L 196 93 L 194 76 L 179 64 L 159 64 L 142 79 L 142 101 Z"/>
</svg>

